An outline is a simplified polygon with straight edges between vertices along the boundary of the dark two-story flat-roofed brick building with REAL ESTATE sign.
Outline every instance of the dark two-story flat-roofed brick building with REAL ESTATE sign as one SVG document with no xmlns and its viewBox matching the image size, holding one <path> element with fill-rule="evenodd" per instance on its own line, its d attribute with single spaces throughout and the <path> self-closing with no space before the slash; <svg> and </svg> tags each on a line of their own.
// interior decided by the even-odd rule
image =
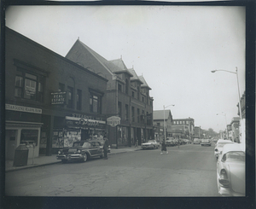
<svg viewBox="0 0 256 209">
<path fill-rule="evenodd" d="M 102 137 L 108 79 L 6 27 L 6 159 L 26 143 L 29 158 Z"/>
</svg>

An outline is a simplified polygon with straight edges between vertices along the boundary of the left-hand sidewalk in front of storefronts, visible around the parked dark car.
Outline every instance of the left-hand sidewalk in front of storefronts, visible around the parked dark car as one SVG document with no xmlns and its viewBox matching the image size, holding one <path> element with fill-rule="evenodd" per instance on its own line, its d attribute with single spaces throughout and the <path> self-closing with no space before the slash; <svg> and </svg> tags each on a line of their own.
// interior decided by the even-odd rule
<svg viewBox="0 0 256 209">
<path fill-rule="evenodd" d="M 127 153 L 127 152 L 134 152 L 137 150 L 141 150 L 140 147 L 138 148 L 112 148 L 111 152 L 108 153 L 108 155 L 111 154 L 120 154 L 120 153 Z M 57 154 L 52 154 L 51 156 L 45 156 L 45 155 L 39 155 L 38 158 L 28 159 L 27 160 L 27 165 L 25 166 L 13 166 L 14 165 L 14 160 L 5 160 L 5 171 L 17 171 L 21 169 L 26 169 L 26 168 L 32 168 L 32 167 L 38 167 L 42 165 L 50 165 L 50 164 L 55 164 L 55 163 L 61 163 L 61 160 L 56 160 L 56 155 Z"/>
</svg>

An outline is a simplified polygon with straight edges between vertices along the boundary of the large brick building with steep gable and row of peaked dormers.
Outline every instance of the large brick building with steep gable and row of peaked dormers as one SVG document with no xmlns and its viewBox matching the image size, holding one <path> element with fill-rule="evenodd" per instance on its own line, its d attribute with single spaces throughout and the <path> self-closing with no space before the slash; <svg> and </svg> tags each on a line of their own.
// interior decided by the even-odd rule
<svg viewBox="0 0 256 209">
<path fill-rule="evenodd" d="M 122 58 L 108 61 L 79 39 L 66 55 L 90 71 L 108 79 L 106 99 L 107 117 L 118 116 L 120 124 L 108 125 L 112 147 L 140 145 L 153 137 L 153 98 L 143 76 L 128 69 Z"/>
</svg>

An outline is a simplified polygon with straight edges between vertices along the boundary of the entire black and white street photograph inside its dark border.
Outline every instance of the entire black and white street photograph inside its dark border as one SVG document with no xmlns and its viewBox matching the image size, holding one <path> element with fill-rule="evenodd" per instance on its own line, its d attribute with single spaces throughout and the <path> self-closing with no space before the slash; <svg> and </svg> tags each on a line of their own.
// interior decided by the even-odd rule
<svg viewBox="0 0 256 209">
<path fill-rule="evenodd" d="M 10 5 L 4 35 L 6 196 L 247 196 L 244 5 Z"/>
</svg>

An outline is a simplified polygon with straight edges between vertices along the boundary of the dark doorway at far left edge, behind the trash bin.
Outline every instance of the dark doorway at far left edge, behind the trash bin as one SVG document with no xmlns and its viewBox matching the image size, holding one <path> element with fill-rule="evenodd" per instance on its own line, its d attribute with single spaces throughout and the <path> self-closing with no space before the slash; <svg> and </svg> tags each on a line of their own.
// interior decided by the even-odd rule
<svg viewBox="0 0 256 209">
<path fill-rule="evenodd" d="M 5 131 L 5 158 L 6 160 L 15 159 L 15 148 L 17 147 L 17 130 Z"/>
</svg>

